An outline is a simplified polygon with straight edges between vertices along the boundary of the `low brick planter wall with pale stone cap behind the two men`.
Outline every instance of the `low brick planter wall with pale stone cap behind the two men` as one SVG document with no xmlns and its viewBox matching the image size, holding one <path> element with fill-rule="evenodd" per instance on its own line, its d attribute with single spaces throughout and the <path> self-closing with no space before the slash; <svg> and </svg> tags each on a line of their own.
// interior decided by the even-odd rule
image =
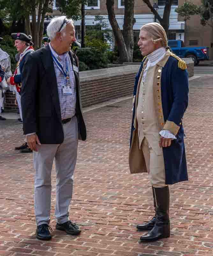
<svg viewBox="0 0 213 256">
<path fill-rule="evenodd" d="M 189 77 L 194 76 L 194 62 L 191 59 L 185 60 Z M 140 63 L 131 63 L 125 66 L 80 72 L 82 107 L 131 95 L 139 67 Z M 14 101 L 15 95 L 12 92 L 6 92 L 5 111 L 18 112 Z"/>
</svg>

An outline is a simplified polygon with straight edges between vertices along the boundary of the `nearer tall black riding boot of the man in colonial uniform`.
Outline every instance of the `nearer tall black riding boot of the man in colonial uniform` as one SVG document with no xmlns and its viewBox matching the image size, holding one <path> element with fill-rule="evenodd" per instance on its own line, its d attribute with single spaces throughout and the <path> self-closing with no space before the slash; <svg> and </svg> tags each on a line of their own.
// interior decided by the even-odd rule
<svg viewBox="0 0 213 256">
<path fill-rule="evenodd" d="M 156 222 L 152 230 L 141 236 L 141 242 L 152 242 L 170 236 L 169 187 L 154 188 L 156 199 Z"/>
</svg>

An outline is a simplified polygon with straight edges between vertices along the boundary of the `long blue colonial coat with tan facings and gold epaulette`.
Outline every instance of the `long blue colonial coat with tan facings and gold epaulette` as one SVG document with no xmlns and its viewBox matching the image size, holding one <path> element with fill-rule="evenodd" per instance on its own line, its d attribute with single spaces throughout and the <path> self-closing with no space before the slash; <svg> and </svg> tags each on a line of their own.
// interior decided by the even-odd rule
<svg viewBox="0 0 213 256">
<path fill-rule="evenodd" d="M 141 63 L 135 78 L 133 92 L 133 119 L 130 137 L 129 167 L 131 173 L 147 172 L 143 152 L 139 149 L 136 124 L 136 94 L 141 82 L 142 71 L 147 59 Z M 184 147 L 182 119 L 188 106 L 188 72 L 186 64 L 171 52 L 166 52 L 163 60 L 156 64 L 153 77 L 153 97 L 158 117 L 159 131 L 169 130 L 176 136 L 170 147 L 163 147 L 165 184 L 188 180 Z"/>
</svg>

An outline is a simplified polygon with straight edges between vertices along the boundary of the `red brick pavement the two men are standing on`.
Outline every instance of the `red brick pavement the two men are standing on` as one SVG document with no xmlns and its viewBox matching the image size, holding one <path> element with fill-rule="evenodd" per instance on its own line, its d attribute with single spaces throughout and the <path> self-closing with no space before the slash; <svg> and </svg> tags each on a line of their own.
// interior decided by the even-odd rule
<svg viewBox="0 0 213 256">
<path fill-rule="evenodd" d="M 0 133 L 0 256 L 206 256 L 213 255 L 213 76 L 190 82 L 184 117 L 189 181 L 171 186 L 171 237 L 138 244 L 136 224 L 151 219 L 147 174 L 129 173 L 132 100 L 84 114 L 88 140 L 79 143 L 70 218 L 79 236 L 55 230 L 55 172 L 52 172 L 53 239 L 35 239 L 32 154 L 20 124 L 5 121 Z"/>
</svg>

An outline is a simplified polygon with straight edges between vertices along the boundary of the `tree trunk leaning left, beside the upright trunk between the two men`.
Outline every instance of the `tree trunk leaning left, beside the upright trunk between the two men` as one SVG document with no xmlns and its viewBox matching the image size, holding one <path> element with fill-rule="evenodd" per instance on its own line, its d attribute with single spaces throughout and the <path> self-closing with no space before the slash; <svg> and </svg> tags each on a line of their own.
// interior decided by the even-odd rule
<svg viewBox="0 0 213 256">
<path fill-rule="evenodd" d="M 114 12 L 114 0 L 107 0 L 107 12 L 108 12 L 108 18 L 110 25 L 113 29 L 115 41 L 118 45 L 118 51 L 119 51 L 119 58 L 120 62 L 129 62 L 129 54 L 126 48 L 126 44 L 123 39 L 123 35 L 121 33 L 121 29 L 118 26 L 118 22 L 115 18 L 115 12 Z"/>
</svg>

